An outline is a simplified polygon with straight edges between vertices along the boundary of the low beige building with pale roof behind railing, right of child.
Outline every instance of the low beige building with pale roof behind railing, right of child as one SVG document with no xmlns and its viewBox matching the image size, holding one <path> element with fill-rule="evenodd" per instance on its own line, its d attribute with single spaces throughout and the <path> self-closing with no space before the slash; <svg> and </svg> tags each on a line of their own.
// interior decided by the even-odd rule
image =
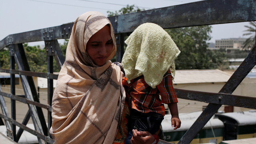
<svg viewBox="0 0 256 144">
<path fill-rule="evenodd" d="M 228 81 L 232 71 L 225 72 L 221 70 L 176 70 L 174 78 L 174 88 L 184 90 L 195 90 L 202 92 L 219 92 L 224 84 Z M 256 77 L 246 77 L 241 84 L 232 93 L 240 96 L 256 97 Z M 179 113 L 197 112 L 208 104 L 192 100 L 178 98 Z M 224 106 L 219 110 L 224 111 Z M 234 112 L 248 111 L 247 108 L 235 107 Z"/>
</svg>

